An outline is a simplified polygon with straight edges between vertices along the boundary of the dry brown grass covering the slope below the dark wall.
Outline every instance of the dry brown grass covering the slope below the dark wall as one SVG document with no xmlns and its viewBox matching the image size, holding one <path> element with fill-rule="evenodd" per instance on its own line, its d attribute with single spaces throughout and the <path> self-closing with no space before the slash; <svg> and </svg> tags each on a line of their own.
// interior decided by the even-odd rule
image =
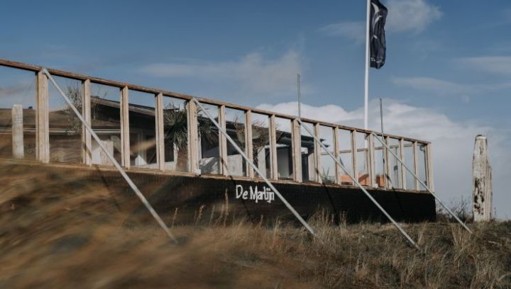
<svg viewBox="0 0 511 289">
<path fill-rule="evenodd" d="M 419 252 L 391 225 L 332 225 L 319 212 L 312 238 L 279 220 L 236 220 L 226 203 L 174 225 L 175 245 L 104 186 L 23 173 L 0 169 L 0 288 L 511 287 L 511 222 L 472 224 L 473 234 L 405 225 Z"/>
</svg>

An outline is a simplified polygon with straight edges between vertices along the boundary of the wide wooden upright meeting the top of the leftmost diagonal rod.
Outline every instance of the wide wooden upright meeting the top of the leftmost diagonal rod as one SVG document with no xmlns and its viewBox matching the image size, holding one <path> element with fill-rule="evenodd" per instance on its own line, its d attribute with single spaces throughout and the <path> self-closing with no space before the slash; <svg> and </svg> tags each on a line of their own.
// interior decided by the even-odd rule
<svg viewBox="0 0 511 289">
<path fill-rule="evenodd" d="M 48 77 L 43 72 L 37 74 L 37 159 L 50 162 L 50 122 L 48 115 Z"/>
</svg>

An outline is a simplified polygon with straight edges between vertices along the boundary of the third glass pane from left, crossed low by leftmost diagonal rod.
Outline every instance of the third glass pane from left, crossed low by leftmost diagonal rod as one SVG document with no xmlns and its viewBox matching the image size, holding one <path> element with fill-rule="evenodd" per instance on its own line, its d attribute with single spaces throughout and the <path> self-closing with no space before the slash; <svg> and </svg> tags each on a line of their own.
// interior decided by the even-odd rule
<svg viewBox="0 0 511 289">
<path fill-rule="evenodd" d="M 121 164 L 121 90 L 119 87 L 91 83 L 91 125 L 99 140 Z M 113 166 L 92 138 L 92 164 Z"/>
</svg>

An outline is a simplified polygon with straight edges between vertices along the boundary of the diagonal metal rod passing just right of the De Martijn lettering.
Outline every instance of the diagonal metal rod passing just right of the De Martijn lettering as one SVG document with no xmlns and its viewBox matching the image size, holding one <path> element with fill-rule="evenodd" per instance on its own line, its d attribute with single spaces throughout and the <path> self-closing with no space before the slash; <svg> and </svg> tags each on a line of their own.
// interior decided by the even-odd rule
<svg viewBox="0 0 511 289">
<path fill-rule="evenodd" d="M 243 159 L 245 159 L 245 161 L 248 162 L 248 164 L 250 164 L 253 167 L 254 171 L 259 174 L 259 176 L 263 179 L 263 181 L 265 181 L 265 183 L 268 184 L 268 186 L 273 190 L 275 195 L 277 195 L 280 198 L 282 203 L 284 203 L 284 205 L 286 205 L 286 207 L 293 213 L 293 215 L 295 215 L 295 217 L 297 217 L 297 219 L 300 220 L 302 225 L 304 225 L 304 227 L 306 227 L 307 230 L 309 230 L 309 232 L 312 235 L 316 236 L 314 229 L 312 229 L 312 227 L 310 227 L 309 224 L 307 224 L 307 222 L 302 218 L 302 216 L 300 216 L 300 214 L 298 214 L 298 212 L 295 210 L 295 208 L 292 208 L 292 205 L 290 203 L 287 203 L 287 200 L 280 194 L 280 192 L 277 190 L 277 188 L 275 188 L 275 186 L 273 186 L 272 183 L 270 183 L 270 181 L 268 181 L 268 179 L 266 179 L 266 177 L 263 175 L 263 173 L 261 173 L 261 171 L 259 171 L 259 168 L 257 166 L 255 166 L 255 164 L 250 159 L 248 159 L 245 152 L 243 152 L 243 149 L 238 147 L 236 142 L 233 141 L 231 136 L 229 136 L 229 134 L 227 134 L 227 132 L 224 130 L 224 128 L 221 128 L 219 123 L 209 114 L 209 112 L 204 108 L 204 106 L 202 106 L 202 103 L 197 101 L 196 98 L 192 98 L 192 101 L 197 103 L 197 106 L 199 106 L 199 108 L 207 115 L 207 117 L 211 120 L 211 122 L 213 122 L 213 124 L 216 126 L 216 128 L 218 128 L 218 130 L 222 133 L 222 135 L 224 135 L 226 137 L 226 139 L 229 140 L 229 142 L 231 142 L 231 145 L 233 145 L 233 147 L 236 149 L 236 151 L 238 151 L 238 153 L 241 154 L 241 157 L 243 157 Z"/>
</svg>

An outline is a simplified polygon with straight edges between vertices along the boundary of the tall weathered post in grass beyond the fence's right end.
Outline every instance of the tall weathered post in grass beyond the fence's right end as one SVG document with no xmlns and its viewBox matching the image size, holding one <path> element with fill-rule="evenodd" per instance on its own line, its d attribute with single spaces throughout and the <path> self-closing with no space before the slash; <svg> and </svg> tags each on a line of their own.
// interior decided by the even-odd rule
<svg viewBox="0 0 511 289">
<path fill-rule="evenodd" d="M 491 167 L 488 161 L 488 140 L 483 135 L 476 137 L 473 162 L 473 217 L 474 221 L 493 219 Z"/>
</svg>

